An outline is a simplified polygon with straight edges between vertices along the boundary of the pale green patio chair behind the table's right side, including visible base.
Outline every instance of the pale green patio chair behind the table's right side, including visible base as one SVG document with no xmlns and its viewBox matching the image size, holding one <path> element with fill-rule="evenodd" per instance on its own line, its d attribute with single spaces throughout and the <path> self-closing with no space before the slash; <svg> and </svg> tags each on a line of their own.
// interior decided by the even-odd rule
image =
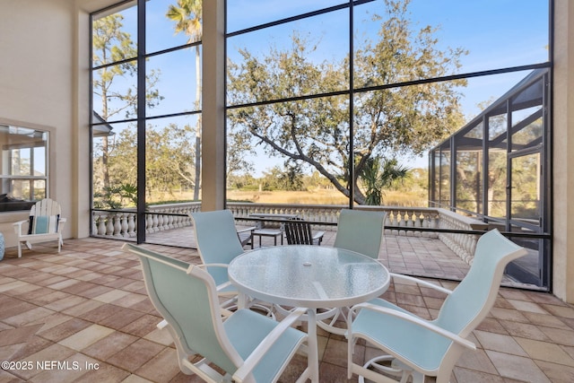
<svg viewBox="0 0 574 383">
<path fill-rule="evenodd" d="M 378 259 L 386 217 L 385 212 L 342 209 L 337 222 L 333 247 L 344 248 Z M 344 335 L 347 313 L 348 308 L 336 309 L 330 318 L 317 320 L 317 326 L 330 333 Z M 336 326 L 337 322 L 339 326 Z"/>
</svg>

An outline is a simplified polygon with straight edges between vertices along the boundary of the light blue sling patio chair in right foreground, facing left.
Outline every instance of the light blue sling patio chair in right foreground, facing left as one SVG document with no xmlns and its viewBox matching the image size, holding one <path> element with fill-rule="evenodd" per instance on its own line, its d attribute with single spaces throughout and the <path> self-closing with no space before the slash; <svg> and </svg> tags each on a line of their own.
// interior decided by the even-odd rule
<svg viewBox="0 0 574 383">
<path fill-rule="evenodd" d="M 417 278 L 391 274 L 394 279 L 418 283 L 447 294 L 437 318 L 426 320 L 387 300 L 375 299 L 352 308 L 348 323 L 348 377 L 353 373 L 374 381 L 396 381 L 388 375 L 423 382 L 425 376 L 448 382 L 461 353 L 475 350 L 465 339 L 487 316 L 499 292 L 504 268 L 526 255 L 526 249 L 504 238 L 499 231 L 483 234 L 476 244 L 468 274 L 454 291 Z M 386 355 L 364 366 L 352 361 L 359 339 L 378 347 Z M 387 375 L 384 375 L 387 374 Z"/>
</svg>

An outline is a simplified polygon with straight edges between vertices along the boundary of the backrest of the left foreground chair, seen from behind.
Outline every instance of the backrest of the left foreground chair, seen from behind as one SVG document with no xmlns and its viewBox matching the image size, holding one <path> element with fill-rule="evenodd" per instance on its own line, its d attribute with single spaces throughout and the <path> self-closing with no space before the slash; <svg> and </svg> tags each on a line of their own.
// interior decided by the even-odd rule
<svg viewBox="0 0 574 383">
<path fill-rule="evenodd" d="M 146 248 L 128 243 L 123 249 L 140 258 L 150 300 L 184 348 L 233 374 L 242 360 L 225 333 L 211 275 Z"/>
</svg>

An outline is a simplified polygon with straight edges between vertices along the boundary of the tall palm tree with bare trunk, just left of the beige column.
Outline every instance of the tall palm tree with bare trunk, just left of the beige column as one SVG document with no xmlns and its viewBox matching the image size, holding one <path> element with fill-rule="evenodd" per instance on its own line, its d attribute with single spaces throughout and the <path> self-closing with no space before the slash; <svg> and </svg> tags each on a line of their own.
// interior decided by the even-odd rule
<svg viewBox="0 0 574 383">
<path fill-rule="evenodd" d="M 175 22 L 175 31 L 187 35 L 187 44 L 201 41 L 202 28 L 202 0 L 178 0 L 178 4 L 171 4 L 166 17 Z M 201 105 L 201 57 L 199 45 L 196 45 L 196 109 Z M 199 184 L 201 178 L 201 117 L 197 118 L 196 129 L 196 182 L 194 186 L 194 199 L 199 199 Z"/>
</svg>

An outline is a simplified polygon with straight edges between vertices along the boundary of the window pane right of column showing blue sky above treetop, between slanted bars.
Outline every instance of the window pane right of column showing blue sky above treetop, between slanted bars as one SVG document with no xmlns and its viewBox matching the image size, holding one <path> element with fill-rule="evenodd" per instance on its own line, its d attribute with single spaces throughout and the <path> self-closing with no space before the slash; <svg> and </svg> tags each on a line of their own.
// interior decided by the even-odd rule
<svg viewBox="0 0 574 383">
<path fill-rule="evenodd" d="M 229 104 L 348 90 L 348 41 L 347 11 L 228 39 Z"/>
</svg>

